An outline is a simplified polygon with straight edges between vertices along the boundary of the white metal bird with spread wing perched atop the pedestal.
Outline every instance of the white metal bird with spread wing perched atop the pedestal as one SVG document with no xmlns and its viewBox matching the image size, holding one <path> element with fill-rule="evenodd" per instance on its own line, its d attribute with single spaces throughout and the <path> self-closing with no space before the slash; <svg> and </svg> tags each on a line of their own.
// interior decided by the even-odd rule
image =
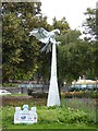
<svg viewBox="0 0 98 131">
<path fill-rule="evenodd" d="M 29 32 L 29 36 L 35 36 L 39 41 L 46 44 L 40 51 L 51 51 L 51 44 L 60 44 L 60 41 L 56 41 L 56 34 L 60 34 L 59 29 L 53 29 L 51 32 L 47 32 L 45 28 L 34 28 Z"/>
</svg>

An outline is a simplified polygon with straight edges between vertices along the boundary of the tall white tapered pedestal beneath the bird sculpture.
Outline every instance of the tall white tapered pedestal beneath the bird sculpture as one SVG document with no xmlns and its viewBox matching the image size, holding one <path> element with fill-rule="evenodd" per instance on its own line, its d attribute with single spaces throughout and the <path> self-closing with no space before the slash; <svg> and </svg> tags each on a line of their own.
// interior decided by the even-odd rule
<svg viewBox="0 0 98 131">
<path fill-rule="evenodd" d="M 57 51 L 56 44 L 52 44 L 51 76 L 48 93 L 47 106 L 60 106 L 60 96 L 57 81 Z"/>
</svg>

